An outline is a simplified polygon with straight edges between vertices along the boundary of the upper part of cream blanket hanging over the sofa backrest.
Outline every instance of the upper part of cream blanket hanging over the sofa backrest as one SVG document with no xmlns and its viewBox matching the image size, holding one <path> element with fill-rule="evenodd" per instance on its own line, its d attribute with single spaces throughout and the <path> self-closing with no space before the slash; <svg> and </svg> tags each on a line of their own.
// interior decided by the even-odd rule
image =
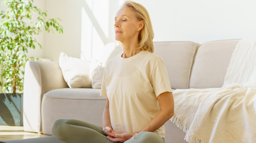
<svg viewBox="0 0 256 143">
<path fill-rule="evenodd" d="M 238 42 L 231 57 L 223 87 L 233 83 L 252 87 L 252 84 L 256 83 L 256 79 L 254 79 L 254 83 L 249 84 L 248 82 L 250 82 L 250 77 L 255 74 L 256 38 L 242 39 Z"/>
</svg>

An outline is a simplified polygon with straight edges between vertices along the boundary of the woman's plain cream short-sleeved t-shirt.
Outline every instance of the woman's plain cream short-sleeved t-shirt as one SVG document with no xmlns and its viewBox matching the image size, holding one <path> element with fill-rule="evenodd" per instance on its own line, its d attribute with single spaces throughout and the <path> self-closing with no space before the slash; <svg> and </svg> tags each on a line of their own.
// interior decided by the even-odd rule
<svg viewBox="0 0 256 143">
<path fill-rule="evenodd" d="M 110 60 L 105 68 L 100 96 L 109 99 L 112 128 L 117 133 L 138 133 L 159 112 L 157 97 L 172 92 L 160 56 L 141 51 L 135 56 Z M 164 137 L 164 126 L 154 133 Z"/>
</svg>

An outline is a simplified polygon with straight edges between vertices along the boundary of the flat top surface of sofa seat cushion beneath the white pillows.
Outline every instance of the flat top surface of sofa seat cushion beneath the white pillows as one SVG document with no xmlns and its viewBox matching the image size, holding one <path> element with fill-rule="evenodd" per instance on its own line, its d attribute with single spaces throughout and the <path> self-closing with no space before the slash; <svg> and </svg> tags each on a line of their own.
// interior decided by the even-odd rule
<svg viewBox="0 0 256 143">
<path fill-rule="evenodd" d="M 93 88 L 60 88 L 48 91 L 44 96 L 51 98 L 67 98 L 67 99 L 106 99 L 101 97 L 100 89 Z"/>
</svg>

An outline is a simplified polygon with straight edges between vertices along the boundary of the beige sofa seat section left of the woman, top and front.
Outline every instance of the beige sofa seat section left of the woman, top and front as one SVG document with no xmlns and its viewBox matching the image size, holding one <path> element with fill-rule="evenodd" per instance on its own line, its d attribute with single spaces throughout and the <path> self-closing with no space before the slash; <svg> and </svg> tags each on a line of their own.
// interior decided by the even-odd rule
<svg viewBox="0 0 256 143">
<path fill-rule="evenodd" d="M 53 135 L 56 119 L 72 118 L 102 126 L 106 98 L 99 96 L 100 89 L 61 88 L 44 94 L 42 99 L 42 131 Z"/>
</svg>

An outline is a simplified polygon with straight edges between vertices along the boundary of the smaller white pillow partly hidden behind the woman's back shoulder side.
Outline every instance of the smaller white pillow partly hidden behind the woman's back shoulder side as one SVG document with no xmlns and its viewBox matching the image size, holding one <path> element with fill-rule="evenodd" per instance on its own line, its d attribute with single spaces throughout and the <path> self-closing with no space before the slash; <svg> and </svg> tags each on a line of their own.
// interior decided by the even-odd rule
<svg viewBox="0 0 256 143">
<path fill-rule="evenodd" d="M 104 70 L 105 65 L 102 65 L 102 63 L 96 59 L 91 60 L 90 72 L 92 75 L 92 88 L 101 88 Z"/>
</svg>

